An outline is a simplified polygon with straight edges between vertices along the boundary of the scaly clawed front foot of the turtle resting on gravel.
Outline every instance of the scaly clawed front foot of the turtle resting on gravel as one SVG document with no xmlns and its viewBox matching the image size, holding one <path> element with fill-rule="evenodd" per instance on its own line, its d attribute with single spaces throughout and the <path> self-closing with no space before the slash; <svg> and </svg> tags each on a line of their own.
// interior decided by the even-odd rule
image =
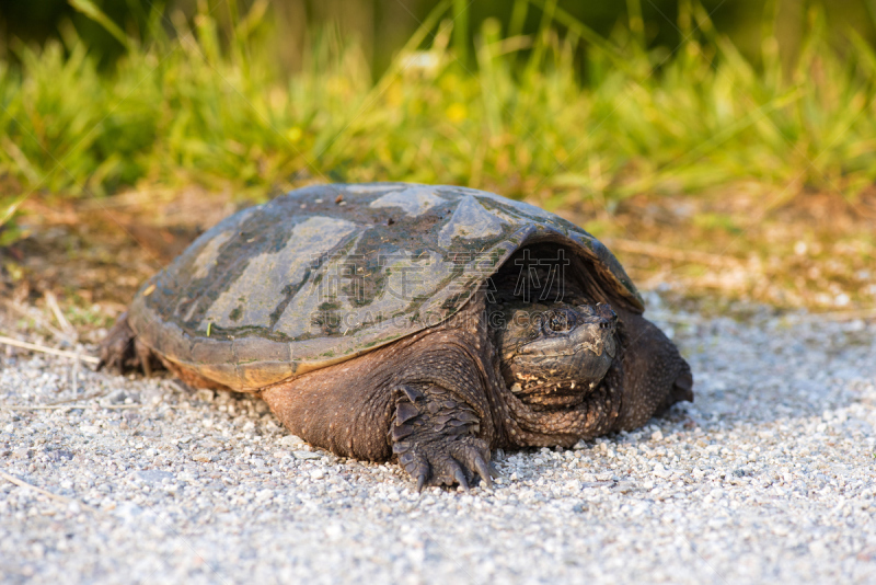
<svg viewBox="0 0 876 585">
<path fill-rule="evenodd" d="M 489 444 L 477 437 L 481 420 L 471 406 L 428 383 L 400 386 L 394 399 L 389 439 L 399 463 L 417 481 L 417 491 L 454 483 L 468 490 L 475 474 L 493 486 Z"/>
</svg>

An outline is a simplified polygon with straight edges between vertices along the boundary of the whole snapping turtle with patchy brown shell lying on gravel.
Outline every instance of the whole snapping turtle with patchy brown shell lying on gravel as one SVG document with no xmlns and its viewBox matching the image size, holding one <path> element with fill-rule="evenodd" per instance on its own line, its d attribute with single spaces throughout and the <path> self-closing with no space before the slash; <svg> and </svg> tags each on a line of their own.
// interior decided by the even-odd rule
<svg viewBox="0 0 876 585">
<path fill-rule="evenodd" d="M 498 195 L 321 185 L 244 209 L 137 292 L 101 366 L 254 392 L 339 456 L 491 484 L 492 449 L 572 446 L 692 400 L 614 256 Z"/>
</svg>

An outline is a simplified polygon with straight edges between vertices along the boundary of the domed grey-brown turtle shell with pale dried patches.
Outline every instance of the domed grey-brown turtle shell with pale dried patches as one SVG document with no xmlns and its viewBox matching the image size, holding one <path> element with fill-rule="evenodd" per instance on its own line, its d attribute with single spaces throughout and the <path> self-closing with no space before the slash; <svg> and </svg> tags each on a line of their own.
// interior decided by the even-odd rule
<svg viewBox="0 0 876 585">
<path fill-rule="evenodd" d="M 445 321 L 545 240 L 643 310 L 611 252 L 569 221 L 484 191 L 373 183 L 300 188 L 226 218 L 140 288 L 128 322 L 165 359 L 252 391 Z"/>
</svg>

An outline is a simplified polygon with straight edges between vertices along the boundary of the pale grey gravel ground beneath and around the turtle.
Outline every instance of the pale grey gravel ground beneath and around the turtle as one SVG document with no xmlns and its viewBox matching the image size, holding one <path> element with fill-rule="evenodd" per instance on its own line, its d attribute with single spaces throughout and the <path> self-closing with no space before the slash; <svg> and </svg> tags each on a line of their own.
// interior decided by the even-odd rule
<svg viewBox="0 0 876 585">
<path fill-rule="evenodd" d="M 249 397 L 88 369 L 73 389 L 69 359 L 7 352 L 2 581 L 876 582 L 876 323 L 655 316 L 694 404 L 498 454 L 470 493 L 311 449 Z"/>
</svg>

